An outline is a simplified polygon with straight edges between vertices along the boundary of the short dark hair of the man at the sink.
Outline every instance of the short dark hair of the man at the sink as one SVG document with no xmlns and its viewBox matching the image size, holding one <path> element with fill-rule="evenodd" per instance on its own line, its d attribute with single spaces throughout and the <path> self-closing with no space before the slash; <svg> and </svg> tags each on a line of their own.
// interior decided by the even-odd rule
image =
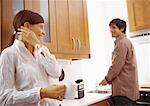
<svg viewBox="0 0 150 106">
<path fill-rule="evenodd" d="M 124 20 L 121 20 L 119 18 L 115 18 L 112 21 L 110 21 L 109 26 L 116 25 L 119 29 L 123 28 L 123 33 L 126 33 L 126 22 Z"/>
</svg>

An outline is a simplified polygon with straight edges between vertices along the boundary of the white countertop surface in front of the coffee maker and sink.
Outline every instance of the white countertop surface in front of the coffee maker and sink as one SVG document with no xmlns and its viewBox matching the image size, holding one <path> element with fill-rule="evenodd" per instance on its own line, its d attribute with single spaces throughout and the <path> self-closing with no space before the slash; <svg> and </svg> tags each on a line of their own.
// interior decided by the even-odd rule
<svg viewBox="0 0 150 106">
<path fill-rule="evenodd" d="M 111 96 L 111 93 L 85 93 L 84 98 L 81 99 L 64 99 L 61 106 L 87 106 L 96 102 L 105 100 Z"/>
</svg>

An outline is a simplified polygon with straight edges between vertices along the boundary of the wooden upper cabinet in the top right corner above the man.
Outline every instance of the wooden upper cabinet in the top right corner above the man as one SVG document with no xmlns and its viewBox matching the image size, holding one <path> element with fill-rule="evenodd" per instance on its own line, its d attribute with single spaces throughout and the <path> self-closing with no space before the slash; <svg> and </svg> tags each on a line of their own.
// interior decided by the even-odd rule
<svg viewBox="0 0 150 106">
<path fill-rule="evenodd" d="M 150 29 L 150 0 L 127 0 L 130 31 Z"/>
</svg>

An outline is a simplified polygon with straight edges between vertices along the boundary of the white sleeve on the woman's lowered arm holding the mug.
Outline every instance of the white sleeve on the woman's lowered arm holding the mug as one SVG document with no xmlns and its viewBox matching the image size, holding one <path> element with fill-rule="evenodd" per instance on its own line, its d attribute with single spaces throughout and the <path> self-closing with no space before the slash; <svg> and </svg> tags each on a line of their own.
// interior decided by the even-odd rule
<svg viewBox="0 0 150 106">
<path fill-rule="evenodd" d="M 15 64 L 6 52 L 0 56 L 0 106 L 36 104 L 40 100 L 40 89 L 18 91 L 15 87 Z"/>
</svg>

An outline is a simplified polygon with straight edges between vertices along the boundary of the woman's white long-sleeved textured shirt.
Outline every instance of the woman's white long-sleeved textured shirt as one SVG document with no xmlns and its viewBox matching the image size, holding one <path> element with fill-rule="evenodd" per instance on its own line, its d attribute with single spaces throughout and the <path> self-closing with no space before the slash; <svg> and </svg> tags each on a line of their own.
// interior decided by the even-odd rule
<svg viewBox="0 0 150 106">
<path fill-rule="evenodd" d="M 34 56 L 24 43 L 15 40 L 0 56 L 0 106 L 58 106 L 60 101 L 40 99 L 41 87 L 59 78 L 61 67 L 45 46 L 37 46 Z"/>
</svg>

